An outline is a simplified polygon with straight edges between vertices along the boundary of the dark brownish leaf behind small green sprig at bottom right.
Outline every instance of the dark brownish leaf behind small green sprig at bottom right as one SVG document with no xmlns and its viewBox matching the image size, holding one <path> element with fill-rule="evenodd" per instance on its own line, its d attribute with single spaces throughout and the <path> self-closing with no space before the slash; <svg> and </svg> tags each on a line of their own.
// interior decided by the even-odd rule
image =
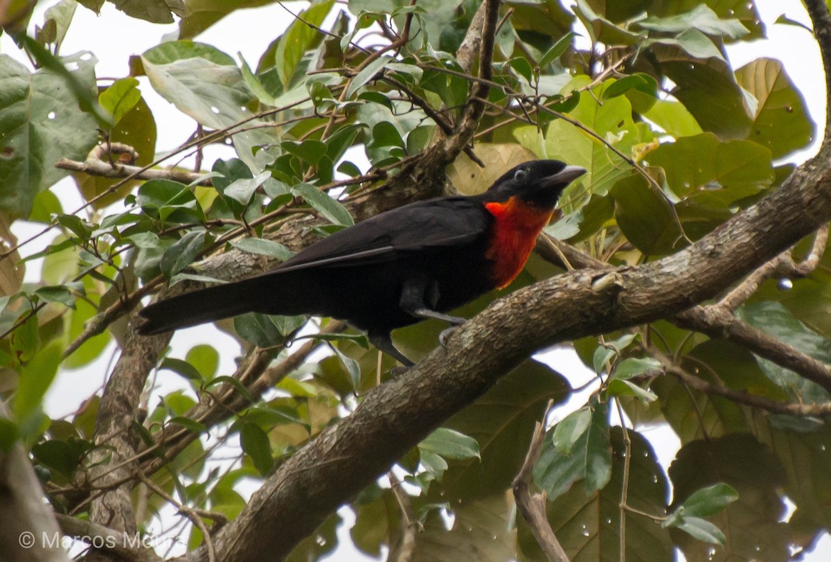
<svg viewBox="0 0 831 562">
<path fill-rule="evenodd" d="M 686 560 L 789 560 L 789 537 L 785 524 L 779 522 L 784 512 L 779 488 L 786 475 L 767 446 L 747 434 L 693 441 L 681 447 L 669 474 L 675 491 L 673 507 L 719 482 L 739 492 L 738 500 L 711 517 L 727 537 L 724 548 L 714 552 L 709 545 L 672 531 Z"/>
</svg>

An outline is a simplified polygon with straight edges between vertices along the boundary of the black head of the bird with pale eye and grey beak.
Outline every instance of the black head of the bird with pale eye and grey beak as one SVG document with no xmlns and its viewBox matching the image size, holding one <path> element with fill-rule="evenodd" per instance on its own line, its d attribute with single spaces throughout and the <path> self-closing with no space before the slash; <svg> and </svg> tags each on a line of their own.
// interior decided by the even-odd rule
<svg viewBox="0 0 831 562">
<path fill-rule="evenodd" d="M 585 173 L 585 168 L 559 160 L 530 160 L 505 172 L 484 196 L 493 201 L 516 197 L 535 207 L 553 209 L 568 184 Z"/>
</svg>

